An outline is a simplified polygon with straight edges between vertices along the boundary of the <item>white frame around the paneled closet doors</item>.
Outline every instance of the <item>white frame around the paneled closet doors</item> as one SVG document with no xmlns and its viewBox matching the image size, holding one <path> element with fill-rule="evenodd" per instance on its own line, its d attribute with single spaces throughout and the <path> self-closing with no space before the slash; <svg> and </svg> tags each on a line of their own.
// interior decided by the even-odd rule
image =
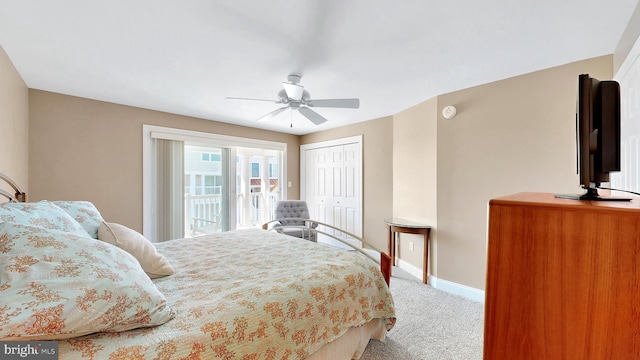
<svg viewBox="0 0 640 360">
<path fill-rule="evenodd" d="M 306 151 L 325 148 L 325 147 L 331 147 L 331 146 L 348 145 L 348 144 L 356 144 L 358 147 L 358 151 L 360 152 L 360 163 L 358 164 L 358 167 L 359 167 L 358 171 L 360 172 L 360 189 L 358 189 L 359 190 L 358 191 L 359 192 L 358 193 L 358 198 L 359 198 L 358 211 L 359 211 L 360 217 L 358 219 L 357 228 L 354 233 L 358 236 L 362 236 L 362 232 L 363 232 L 362 226 L 364 223 L 364 209 L 362 206 L 363 193 L 364 193 L 364 189 L 363 189 L 364 174 L 362 172 L 362 164 L 364 162 L 364 158 L 362 156 L 363 155 L 362 154 L 362 135 L 355 135 L 355 136 L 349 136 L 349 137 L 340 138 L 340 139 L 333 139 L 333 140 L 320 141 L 320 142 L 300 145 L 300 200 L 306 201 L 306 194 L 307 194 Z"/>
</svg>

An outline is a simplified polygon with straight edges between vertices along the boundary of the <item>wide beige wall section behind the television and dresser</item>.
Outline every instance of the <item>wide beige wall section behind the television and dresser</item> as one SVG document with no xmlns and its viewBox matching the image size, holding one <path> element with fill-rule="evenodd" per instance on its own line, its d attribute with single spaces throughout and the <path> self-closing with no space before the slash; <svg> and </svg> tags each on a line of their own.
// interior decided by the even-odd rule
<svg viewBox="0 0 640 360">
<path fill-rule="evenodd" d="M 438 97 L 438 267 L 441 279 L 485 286 L 487 203 L 521 191 L 579 193 L 578 75 L 611 79 L 612 56 Z"/>
</svg>

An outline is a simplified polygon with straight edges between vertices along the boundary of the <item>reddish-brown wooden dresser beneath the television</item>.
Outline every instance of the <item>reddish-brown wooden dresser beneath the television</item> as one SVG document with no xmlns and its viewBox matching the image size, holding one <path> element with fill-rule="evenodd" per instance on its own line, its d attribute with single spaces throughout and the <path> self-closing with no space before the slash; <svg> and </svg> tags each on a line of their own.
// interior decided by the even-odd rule
<svg viewBox="0 0 640 360">
<path fill-rule="evenodd" d="M 489 202 L 484 359 L 640 359 L 640 199 Z"/>
</svg>

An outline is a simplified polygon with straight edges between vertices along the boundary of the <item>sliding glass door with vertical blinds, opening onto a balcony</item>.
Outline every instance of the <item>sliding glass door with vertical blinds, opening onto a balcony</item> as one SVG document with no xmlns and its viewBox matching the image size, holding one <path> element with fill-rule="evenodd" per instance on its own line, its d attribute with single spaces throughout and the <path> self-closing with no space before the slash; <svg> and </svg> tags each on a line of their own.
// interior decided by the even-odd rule
<svg viewBox="0 0 640 360">
<path fill-rule="evenodd" d="M 259 227 L 286 198 L 284 144 L 144 129 L 143 231 L 152 241 Z"/>
</svg>

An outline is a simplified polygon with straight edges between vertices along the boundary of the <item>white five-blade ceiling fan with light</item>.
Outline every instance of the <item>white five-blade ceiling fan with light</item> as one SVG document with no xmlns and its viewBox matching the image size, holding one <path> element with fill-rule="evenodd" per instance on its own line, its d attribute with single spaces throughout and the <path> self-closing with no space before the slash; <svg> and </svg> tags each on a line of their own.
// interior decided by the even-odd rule
<svg viewBox="0 0 640 360">
<path fill-rule="evenodd" d="M 231 100 L 253 100 L 253 101 L 269 101 L 275 104 L 284 104 L 285 106 L 275 109 L 272 112 L 258 118 L 256 121 L 264 121 L 270 119 L 281 112 L 290 109 L 293 113 L 297 110 L 304 117 L 309 119 L 312 123 L 320 125 L 327 121 L 322 115 L 318 114 L 311 108 L 315 107 L 327 107 L 327 108 L 344 108 L 344 109 L 357 109 L 360 107 L 359 99 L 316 99 L 312 100 L 309 92 L 304 89 L 304 86 L 300 85 L 300 79 L 302 76 L 298 74 L 291 74 L 287 77 L 287 81 L 282 83 L 283 89 L 278 92 L 277 100 L 265 100 L 265 99 L 249 99 L 238 97 L 227 97 Z M 292 125 L 293 126 L 293 125 Z"/>
</svg>

